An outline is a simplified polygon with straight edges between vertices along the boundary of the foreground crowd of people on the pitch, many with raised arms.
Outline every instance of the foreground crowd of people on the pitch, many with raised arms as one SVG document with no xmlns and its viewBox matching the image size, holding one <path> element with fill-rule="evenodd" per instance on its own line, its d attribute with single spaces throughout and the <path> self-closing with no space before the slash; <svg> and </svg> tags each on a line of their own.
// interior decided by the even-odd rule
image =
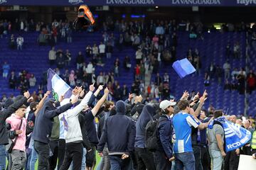
<svg viewBox="0 0 256 170">
<path fill-rule="evenodd" d="M 31 170 L 37 159 L 38 169 L 235 170 L 240 154 L 255 158 L 255 120 L 212 106 L 203 110 L 206 91 L 160 103 L 128 94 L 114 103 L 107 101 L 107 87 L 96 87 L 75 86 L 68 98 L 50 98 L 47 91 L 39 102 L 28 91 L 7 98 L 0 114 L 0 169 L 6 169 L 6 157 L 9 169 Z M 225 152 L 223 127 L 208 126 L 222 116 L 249 130 L 252 139 Z M 102 157 L 97 167 L 95 154 Z"/>
</svg>

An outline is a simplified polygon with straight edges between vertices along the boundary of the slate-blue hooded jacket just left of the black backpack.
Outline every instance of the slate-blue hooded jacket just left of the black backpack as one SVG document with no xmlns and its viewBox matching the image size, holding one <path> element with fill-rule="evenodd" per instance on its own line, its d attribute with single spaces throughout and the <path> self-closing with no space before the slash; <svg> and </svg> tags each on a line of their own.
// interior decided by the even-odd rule
<svg viewBox="0 0 256 170">
<path fill-rule="evenodd" d="M 142 113 L 139 115 L 136 123 L 135 147 L 145 148 L 146 124 L 149 123 L 150 120 L 153 120 L 155 114 L 156 109 L 154 106 L 146 105 L 142 109 Z"/>
</svg>

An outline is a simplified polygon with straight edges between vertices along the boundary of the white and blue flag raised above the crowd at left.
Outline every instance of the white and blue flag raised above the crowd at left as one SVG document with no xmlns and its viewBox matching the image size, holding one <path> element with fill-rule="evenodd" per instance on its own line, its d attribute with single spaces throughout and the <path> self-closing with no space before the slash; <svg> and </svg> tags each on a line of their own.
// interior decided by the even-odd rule
<svg viewBox="0 0 256 170">
<path fill-rule="evenodd" d="M 61 79 L 58 74 L 53 72 L 52 69 L 48 69 L 47 73 L 47 90 L 52 91 L 52 97 L 58 101 L 61 95 L 65 98 L 70 98 L 72 96 L 72 89 L 68 84 Z"/>
</svg>

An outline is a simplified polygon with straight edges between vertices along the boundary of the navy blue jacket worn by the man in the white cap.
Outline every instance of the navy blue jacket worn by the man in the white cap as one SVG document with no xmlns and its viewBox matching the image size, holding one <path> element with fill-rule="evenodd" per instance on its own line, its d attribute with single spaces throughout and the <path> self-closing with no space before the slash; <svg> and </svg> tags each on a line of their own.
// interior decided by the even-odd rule
<svg viewBox="0 0 256 170">
<path fill-rule="evenodd" d="M 158 132 L 159 132 L 159 151 L 164 151 L 166 157 L 170 159 L 173 157 L 173 144 L 171 142 L 172 135 L 173 135 L 173 127 L 171 120 L 167 118 L 166 115 L 161 115 L 159 118 L 159 125 L 158 125 Z"/>
</svg>

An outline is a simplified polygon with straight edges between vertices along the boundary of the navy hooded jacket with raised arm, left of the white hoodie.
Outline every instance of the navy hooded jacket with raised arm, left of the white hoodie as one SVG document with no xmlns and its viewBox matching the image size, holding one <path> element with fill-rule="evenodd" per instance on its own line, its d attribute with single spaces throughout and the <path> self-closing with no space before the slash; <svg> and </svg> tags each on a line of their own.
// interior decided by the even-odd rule
<svg viewBox="0 0 256 170">
<path fill-rule="evenodd" d="M 51 130 L 53 128 L 53 118 L 67 111 L 72 106 L 72 103 L 67 103 L 60 108 L 55 108 L 53 102 L 54 101 L 50 99 L 46 100 L 43 104 L 43 108 L 38 112 L 38 116 L 36 117 L 33 139 L 38 142 L 49 143 Z M 56 103 L 57 106 L 59 104 L 59 102 Z"/>
</svg>

